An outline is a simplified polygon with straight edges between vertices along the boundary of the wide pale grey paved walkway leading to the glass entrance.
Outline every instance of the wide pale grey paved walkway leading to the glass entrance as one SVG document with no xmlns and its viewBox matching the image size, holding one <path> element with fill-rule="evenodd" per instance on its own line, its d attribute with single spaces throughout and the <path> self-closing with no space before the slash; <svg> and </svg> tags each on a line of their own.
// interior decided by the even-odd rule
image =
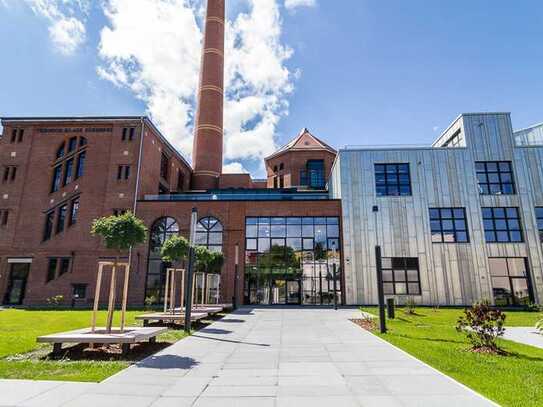
<svg viewBox="0 0 543 407">
<path fill-rule="evenodd" d="M 0 381 L 0 406 L 492 406 L 348 319 L 243 308 L 100 384 Z"/>
</svg>

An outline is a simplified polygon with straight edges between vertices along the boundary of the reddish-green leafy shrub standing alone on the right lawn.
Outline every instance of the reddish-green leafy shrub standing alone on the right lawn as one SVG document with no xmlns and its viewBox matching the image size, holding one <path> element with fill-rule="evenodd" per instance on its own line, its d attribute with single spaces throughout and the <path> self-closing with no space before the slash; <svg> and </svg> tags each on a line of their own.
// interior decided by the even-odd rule
<svg viewBox="0 0 543 407">
<path fill-rule="evenodd" d="M 472 350 L 501 352 L 496 339 L 505 332 L 505 314 L 490 307 L 488 301 L 475 303 L 458 318 L 456 330 L 464 332 Z"/>
</svg>

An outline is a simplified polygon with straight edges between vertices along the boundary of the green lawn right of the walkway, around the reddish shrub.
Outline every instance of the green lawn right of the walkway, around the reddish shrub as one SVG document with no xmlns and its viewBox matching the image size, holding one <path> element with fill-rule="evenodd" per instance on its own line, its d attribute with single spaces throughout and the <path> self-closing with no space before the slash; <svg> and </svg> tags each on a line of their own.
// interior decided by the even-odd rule
<svg viewBox="0 0 543 407">
<path fill-rule="evenodd" d="M 378 315 L 377 308 L 362 310 Z M 500 339 L 508 356 L 468 351 L 465 335 L 455 330 L 462 309 L 417 308 L 416 315 L 396 310 L 380 337 L 503 406 L 543 405 L 543 349 Z M 543 316 L 507 312 L 506 326 L 533 326 Z"/>
</svg>

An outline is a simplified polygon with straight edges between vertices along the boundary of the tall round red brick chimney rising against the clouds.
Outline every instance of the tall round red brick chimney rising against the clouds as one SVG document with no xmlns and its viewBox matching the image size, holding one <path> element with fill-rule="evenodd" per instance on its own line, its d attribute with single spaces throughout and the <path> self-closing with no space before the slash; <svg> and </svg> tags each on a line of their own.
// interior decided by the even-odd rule
<svg viewBox="0 0 543 407">
<path fill-rule="evenodd" d="M 224 2 L 207 1 L 192 151 L 192 189 L 218 188 L 222 171 Z"/>
</svg>

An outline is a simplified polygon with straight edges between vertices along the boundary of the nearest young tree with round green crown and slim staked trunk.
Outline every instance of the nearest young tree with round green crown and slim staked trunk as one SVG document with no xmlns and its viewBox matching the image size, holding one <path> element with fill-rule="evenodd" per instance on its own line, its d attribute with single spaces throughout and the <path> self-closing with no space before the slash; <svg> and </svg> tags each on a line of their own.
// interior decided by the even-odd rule
<svg viewBox="0 0 543 407">
<path fill-rule="evenodd" d="M 103 239 L 105 246 L 108 249 L 115 250 L 115 262 L 111 272 L 110 297 L 107 315 L 107 332 L 111 332 L 113 324 L 113 311 L 115 308 L 115 271 L 119 263 L 119 257 L 123 251 L 129 250 L 131 247 L 144 243 L 147 237 L 147 228 L 141 219 L 138 219 L 132 212 L 126 212 L 118 216 L 106 216 L 95 219 L 92 223 L 91 234 L 100 236 Z M 125 271 L 125 281 L 123 290 L 123 305 L 121 314 L 121 331 L 124 329 L 125 311 L 126 311 L 126 296 L 128 290 L 128 273 Z M 100 293 L 95 293 L 99 295 Z M 95 317 L 93 317 L 95 318 Z"/>
</svg>

